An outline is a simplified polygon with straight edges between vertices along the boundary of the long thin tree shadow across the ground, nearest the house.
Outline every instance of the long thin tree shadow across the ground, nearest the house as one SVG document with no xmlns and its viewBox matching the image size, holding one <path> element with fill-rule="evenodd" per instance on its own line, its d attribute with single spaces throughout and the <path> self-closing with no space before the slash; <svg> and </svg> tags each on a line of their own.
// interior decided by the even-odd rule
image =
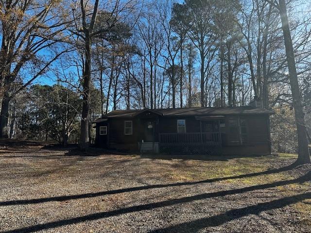
<svg viewBox="0 0 311 233">
<path fill-rule="evenodd" d="M 288 171 L 288 170 L 295 168 L 296 166 L 297 165 L 294 163 L 289 166 L 284 166 L 284 167 L 280 167 L 276 169 L 270 169 L 270 170 L 266 170 L 262 172 L 256 172 L 256 173 L 250 173 L 250 174 L 244 174 L 244 175 L 238 175 L 238 176 L 215 178 L 215 179 L 207 179 L 207 180 L 196 181 L 196 182 L 153 184 L 153 185 L 146 185 L 146 186 L 108 190 L 108 191 L 97 192 L 97 193 L 86 193 L 86 194 L 58 196 L 58 197 L 50 197 L 50 198 L 38 198 L 38 199 L 31 199 L 31 200 L 8 200 L 8 201 L 0 202 L 0 206 L 36 204 L 36 203 L 43 203 L 43 202 L 49 202 L 49 201 L 76 200 L 76 199 L 83 199 L 83 198 L 94 198 L 94 197 L 99 197 L 99 196 L 104 196 L 104 195 L 148 190 L 148 189 L 154 189 L 154 188 L 177 187 L 177 186 L 183 186 L 183 185 L 195 185 L 195 184 L 200 184 L 200 183 L 214 183 L 214 182 L 220 182 L 220 181 L 225 181 L 225 180 L 242 179 L 242 178 L 249 178 L 249 177 L 255 177 L 255 176 L 260 176 L 260 175 L 268 175 L 268 174 Z"/>
</svg>

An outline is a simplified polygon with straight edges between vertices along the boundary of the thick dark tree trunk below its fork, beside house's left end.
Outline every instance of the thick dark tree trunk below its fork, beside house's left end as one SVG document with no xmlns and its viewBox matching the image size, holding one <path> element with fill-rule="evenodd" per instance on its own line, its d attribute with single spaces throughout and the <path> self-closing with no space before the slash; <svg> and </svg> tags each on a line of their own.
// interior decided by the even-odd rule
<svg viewBox="0 0 311 233">
<path fill-rule="evenodd" d="M 89 122 L 89 108 L 90 108 L 90 84 L 91 84 L 91 38 L 86 34 L 85 38 L 85 69 L 83 73 L 83 104 L 82 104 L 82 119 L 81 119 L 81 135 L 80 148 L 87 150 L 89 146 L 88 137 L 88 122 Z"/>
</svg>

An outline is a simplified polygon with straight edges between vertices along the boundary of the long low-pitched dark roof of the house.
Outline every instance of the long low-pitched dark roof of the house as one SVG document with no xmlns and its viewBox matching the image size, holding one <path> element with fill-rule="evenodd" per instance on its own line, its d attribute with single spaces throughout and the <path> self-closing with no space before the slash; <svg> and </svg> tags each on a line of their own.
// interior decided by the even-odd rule
<svg viewBox="0 0 311 233">
<path fill-rule="evenodd" d="M 222 116 L 222 115 L 274 114 L 274 111 L 272 110 L 267 110 L 264 108 L 254 108 L 251 106 L 114 110 L 108 113 L 107 115 L 103 116 L 102 118 L 93 121 L 93 123 L 102 122 L 107 118 L 134 117 L 146 111 L 150 111 L 160 116 Z"/>
</svg>

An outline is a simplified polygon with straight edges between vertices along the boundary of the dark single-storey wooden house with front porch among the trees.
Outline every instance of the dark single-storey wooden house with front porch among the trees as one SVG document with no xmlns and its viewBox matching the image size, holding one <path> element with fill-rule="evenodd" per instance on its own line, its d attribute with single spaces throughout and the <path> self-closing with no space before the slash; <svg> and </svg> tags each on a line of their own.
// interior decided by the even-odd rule
<svg viewBox="0 0 311 233">
<path fill-rule="evenodd" d="M 270 154 L 273 113 L 251 106 L 115 110 L 93 122 L 95 144 L 132 151 Z"/>
</svg>

